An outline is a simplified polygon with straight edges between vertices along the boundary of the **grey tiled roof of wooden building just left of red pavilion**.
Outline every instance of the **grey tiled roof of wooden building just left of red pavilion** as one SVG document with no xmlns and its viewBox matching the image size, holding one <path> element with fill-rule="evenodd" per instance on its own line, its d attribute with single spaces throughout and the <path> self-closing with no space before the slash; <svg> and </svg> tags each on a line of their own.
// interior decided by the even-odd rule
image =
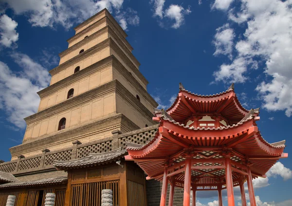
<svg viewBox="0 0 292 206">
<path fill-rule="evenodd" d="M 54 166 L 57 169 L 71 169 L 71 168 L 82 168 L 88 166 L 96 166 L 101 164 L 110 163 L 119 160 L 127 154 L 127 150 L 119 148 L 103 153 L 90 153 L 87 157 L 80 159 L 57 161 L 55 160 Z"/>
</svg>

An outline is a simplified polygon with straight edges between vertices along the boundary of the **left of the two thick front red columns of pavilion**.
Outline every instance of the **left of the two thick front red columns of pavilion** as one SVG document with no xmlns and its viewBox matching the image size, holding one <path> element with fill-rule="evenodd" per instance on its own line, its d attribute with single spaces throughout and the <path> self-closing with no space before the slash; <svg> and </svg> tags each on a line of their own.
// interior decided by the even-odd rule
<svg viewBox="0 0 292 206">
<path fill-rule="evenodd" d="M 185 159 L 183 206 L 190 206 L 191 169 L 192 169 L 192 159 L 190 156 L 187 156 Z"/>
</svg>

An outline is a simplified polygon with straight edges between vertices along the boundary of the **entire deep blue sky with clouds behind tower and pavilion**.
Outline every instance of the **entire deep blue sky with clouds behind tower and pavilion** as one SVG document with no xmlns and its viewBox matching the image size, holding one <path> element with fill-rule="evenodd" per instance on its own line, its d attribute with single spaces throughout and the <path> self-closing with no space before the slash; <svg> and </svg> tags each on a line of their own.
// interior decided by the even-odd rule
<svg viewBox="0 0 292 206">
<path fill-rule="evenodd" d="M 21 143 L 23 118 L 37 111 L 36 92 L 73 27 L 105 7 L 126 29 L 160 107 L 169 107 L 179 82 L 197 94 L 234 82 L 245 108 L 261 108 L 263 137 L 286 139 L 292 151 L 292 0 L 0 0 L 0 159 Z M 258 206 L 292 205 L 290 168 L 282 159 L 254 182 Z M 218 205 L 212 192 L 198 197 L 199 206 Z"/>
</svg>

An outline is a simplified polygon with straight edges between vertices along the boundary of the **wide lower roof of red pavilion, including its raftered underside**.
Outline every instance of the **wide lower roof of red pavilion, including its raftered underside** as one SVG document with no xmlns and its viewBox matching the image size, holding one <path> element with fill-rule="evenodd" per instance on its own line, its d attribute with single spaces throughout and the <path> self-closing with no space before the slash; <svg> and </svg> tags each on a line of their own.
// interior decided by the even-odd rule
<svg viewBox="0 0 292 206">
<path fill-rule="evenodd" d="M 168 112 L 162 111 L 155 136 L 145 145 L 129 143 L 126 159 L 130 156 L 150 178 L 155 178 L 163 173 L 166 161 L 172 165 L 183 161 L 187 150 L 196 154 L 195 159 L 222 158 L 222 151 L 228 150 L 233 154 L 233 161 L 249 158 L 254 177 L 264 176 L 279 158 L 286 157 L 285 141 L 268 143 L 256 126 L 257 113 L 258 109 L 250 110 L 232 126 L 193 128 L 176 122 Z"/>
</svg>

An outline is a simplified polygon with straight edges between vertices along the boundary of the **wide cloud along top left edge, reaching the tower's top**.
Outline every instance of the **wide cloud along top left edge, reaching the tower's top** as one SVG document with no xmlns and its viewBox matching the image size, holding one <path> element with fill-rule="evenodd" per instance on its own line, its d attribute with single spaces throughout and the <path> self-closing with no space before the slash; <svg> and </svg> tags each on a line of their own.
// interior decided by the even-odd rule
<svg viewBox="0 0 292 206">
<path fill-rule="evenodd" d="M 124 0 L 2 0 L 17 15 L 26 15 L 33 26 L 52 27 L 60 24 L 66 29 L 107 8 L 119 15 Z M 123 22 L 123 21 L 122 21 Z"/>
</svg>

